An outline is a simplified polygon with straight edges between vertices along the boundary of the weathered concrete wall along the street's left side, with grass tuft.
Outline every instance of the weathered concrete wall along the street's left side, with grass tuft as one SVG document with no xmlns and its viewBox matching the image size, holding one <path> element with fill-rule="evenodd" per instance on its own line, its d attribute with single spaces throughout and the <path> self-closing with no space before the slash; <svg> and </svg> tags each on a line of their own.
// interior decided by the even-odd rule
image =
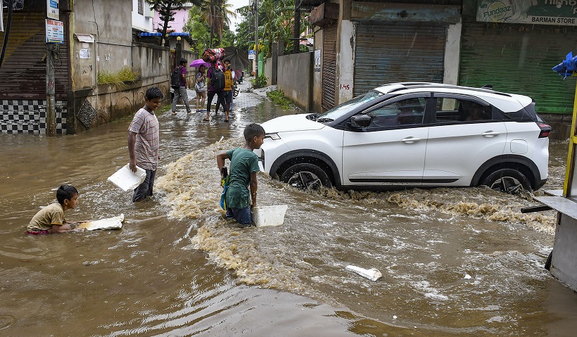
<svg viewBox="0 0 577 337">
<path fill-rule="evenodd" d="M 94 10 L 92 3 L 94 3 Z M 133 115 L 144 106 L 146 89 L 158 87 L 170 102 L 171 51 L 165 46 L 132 43 L 132 29 L 127 29 L 132 1 L 115 1 L 114 9 L 106 0 L 77 0 L 70 29 L 72 90 L 68 93 L 67 134 Z M 75 34 L 91 34 L 94 42 L 81 42 Z M 84 49 L 84 51 L 81 51 Z M 89 51 L 87 57 L 86 49 Z M 191 59 L 191 53 L 184 52 Z M 139 74 L 137 82 L 122 87 L 97 84 L 99 71 L 118 72 L 130 68 Z M 194 69 L 189 70 L 191 86 Z"/>
</svg>

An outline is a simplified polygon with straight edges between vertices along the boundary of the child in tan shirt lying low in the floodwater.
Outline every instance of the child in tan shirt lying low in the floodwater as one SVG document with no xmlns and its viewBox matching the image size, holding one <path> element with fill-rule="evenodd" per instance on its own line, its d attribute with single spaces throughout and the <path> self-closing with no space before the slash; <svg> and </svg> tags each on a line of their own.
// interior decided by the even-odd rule
<svg viewBox="0 0 577 337">
<path fill-rule="evenodd" d="M 56 191 L 58 203 L 39 210 L 30 224 L 26 227 L 26 234 L 58 234 L 70 231 L 70 224 L 80 222 L 67 222 L 64 212 L 74 209 L 78 204 L 78 191 L 72 185 L 62 185 Z"/>
</svg>

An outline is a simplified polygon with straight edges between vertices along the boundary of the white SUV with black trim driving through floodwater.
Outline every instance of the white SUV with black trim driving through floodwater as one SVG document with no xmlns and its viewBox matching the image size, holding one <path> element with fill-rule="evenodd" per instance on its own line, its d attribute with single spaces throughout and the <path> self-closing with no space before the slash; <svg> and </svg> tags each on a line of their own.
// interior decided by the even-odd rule
<svg viewBox="0 0 577 337">
<path fill-rule="evenodd" d="M 514 193 L 547 181 L 549 132 L 527 96 L 393 83 L 322 115 L 262 124 L 261 169 L 301 189 L 477 186 Z"/>
</svg>

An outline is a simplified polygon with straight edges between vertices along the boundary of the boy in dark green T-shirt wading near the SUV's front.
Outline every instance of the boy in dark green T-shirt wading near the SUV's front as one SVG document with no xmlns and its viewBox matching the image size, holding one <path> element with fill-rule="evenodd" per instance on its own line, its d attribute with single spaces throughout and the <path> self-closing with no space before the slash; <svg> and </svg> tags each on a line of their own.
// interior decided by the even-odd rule
<svg viewBox="0 0 577 337">
<path fill-rule="evenodd" d="M 222 177 L 224 160 L 230 160 L 229 187 L 225 196 L 227 201 L 227 217 L 240 224 L 240 227 L 251 226 L 253 217 L 251 208 L 256 205 L 256 191 L 258 183 L 256 172 L 258 168 L 258 155 L 253 152 L 260 148 L 265 141 L 265 129 L 258 124 L 247 125 L 244 129 L 246 144 L 217 155 L 217 165 Z M 250 191 L 249 191 L 250 188 Z"/>
</svg>

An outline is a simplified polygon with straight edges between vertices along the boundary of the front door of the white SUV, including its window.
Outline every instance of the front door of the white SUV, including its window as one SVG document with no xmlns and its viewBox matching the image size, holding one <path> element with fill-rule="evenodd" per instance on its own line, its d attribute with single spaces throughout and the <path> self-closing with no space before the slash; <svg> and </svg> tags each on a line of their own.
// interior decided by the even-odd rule
<svg viewBox="0 0 577 337">
<path fill-rule="evenodd" d="M 425 106 L 426 94 L 413 94 L 362 111 L 371 124 L 344 132 L 343 185 L 419 186 L 429 129 Z"/>
</svg>

